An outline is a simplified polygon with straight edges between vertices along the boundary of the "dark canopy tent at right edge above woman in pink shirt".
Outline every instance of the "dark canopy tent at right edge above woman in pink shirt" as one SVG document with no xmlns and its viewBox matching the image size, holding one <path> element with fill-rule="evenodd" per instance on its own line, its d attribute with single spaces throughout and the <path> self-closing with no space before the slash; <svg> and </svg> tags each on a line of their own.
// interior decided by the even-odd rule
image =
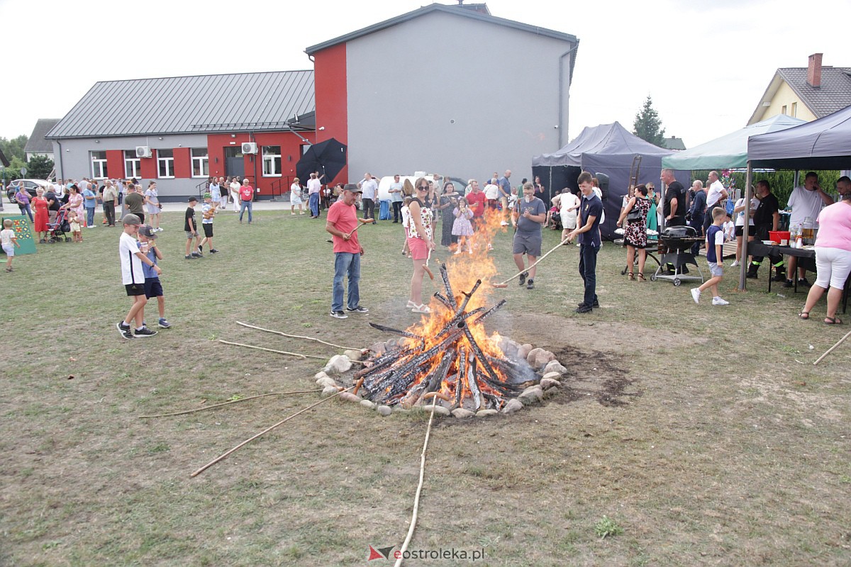
<svg viewBox="0 0 851 567">
<path fill-rule="evenodd" d="M 795 128 L 751 136 L 747 155 L 745 202 L 751 201 L 754 167 L 851 169 L 851 106 Z M 747 230 L 745 223 L 742 258 L 747 258 Z M 745 264 L 740 270 L 740 289 L 745 289 Z"/>
</svg>

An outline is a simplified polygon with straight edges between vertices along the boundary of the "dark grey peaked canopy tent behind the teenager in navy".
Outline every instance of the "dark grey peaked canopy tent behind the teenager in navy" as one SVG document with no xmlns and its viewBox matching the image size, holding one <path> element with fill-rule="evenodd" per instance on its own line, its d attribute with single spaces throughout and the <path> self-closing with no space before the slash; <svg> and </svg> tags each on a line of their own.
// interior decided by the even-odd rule
<svg viewBox="0 0 851 567">
<path fill-rule="evenodd" d="M 601 124 L 582 130 L 572 142 L 554 154 L 532 158 L 532 173 L 547 186 L 547 199 L 569 187 L 578 190 L 580 172 L 605 173 L 609 177 L 608 198 L 603 200 L 606 222 L 601 226 L 603 238 L 614 237 L 623 196 L 629 190 L 630 169 L 635 156 L 642 156 L 639 184 L 653 182 L 660 187 L 662 156 L 673 153 L 638 138 L 619 122 Z M 680 183 L 688 185 L 688 172 L 675 172 Z M 546 201 L 549 206 L 549 201 Z"/>
</svg>

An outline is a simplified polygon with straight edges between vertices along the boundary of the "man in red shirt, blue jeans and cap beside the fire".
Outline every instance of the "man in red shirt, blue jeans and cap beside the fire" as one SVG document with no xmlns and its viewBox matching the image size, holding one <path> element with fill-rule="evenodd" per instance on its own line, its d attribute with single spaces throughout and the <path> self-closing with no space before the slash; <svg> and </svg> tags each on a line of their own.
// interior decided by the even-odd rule
<svg viewBox="0 0 851 567">
<path fill-rule="evenodd" d="M 368 313 L 360 305 L 361 256 L 363 247 L 357 241 L 357 211 L 355 201 L 362 191 L 356 184 L 346 184 L 340 198 L 328 209 L 325 230 L 331 233 L 334 242 L 334 294 L 331 300 L 331 316 L 346 319 L 346 311 Z M 349 301 L 343 311 L 343 278 L 349 277 Z"/>
</svg>

